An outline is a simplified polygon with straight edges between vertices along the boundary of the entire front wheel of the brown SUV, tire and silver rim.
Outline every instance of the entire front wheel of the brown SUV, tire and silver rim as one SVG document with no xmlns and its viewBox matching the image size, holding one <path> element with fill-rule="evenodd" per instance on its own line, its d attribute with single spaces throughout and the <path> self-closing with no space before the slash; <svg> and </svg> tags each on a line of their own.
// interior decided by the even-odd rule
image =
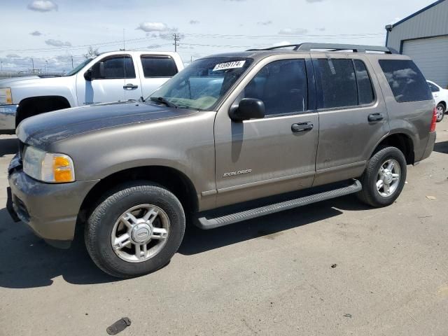
<svg viewBox="0 0 448 336">
<path fill-rule="evenodd" d="M 113 191 L 94 209 L 85 246 L 107 274 L 130 278 L 167 265 L 181 245 L 186 219 L 181 202 L 162 186 L 133 183 Z"/>
</svg>

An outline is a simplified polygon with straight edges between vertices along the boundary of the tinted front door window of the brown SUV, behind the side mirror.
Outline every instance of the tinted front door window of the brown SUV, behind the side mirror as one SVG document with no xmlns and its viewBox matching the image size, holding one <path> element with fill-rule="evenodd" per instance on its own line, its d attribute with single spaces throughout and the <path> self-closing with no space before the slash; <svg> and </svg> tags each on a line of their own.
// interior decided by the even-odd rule
<svg viewBox="0 0 448 336">
<path fill-rule="evenodd" d="M 304 59 L 267 64 L 244 89 L 244 97 L 261 99 L 266 114 L 307 111 L 307 71 Z"/>
</svg>

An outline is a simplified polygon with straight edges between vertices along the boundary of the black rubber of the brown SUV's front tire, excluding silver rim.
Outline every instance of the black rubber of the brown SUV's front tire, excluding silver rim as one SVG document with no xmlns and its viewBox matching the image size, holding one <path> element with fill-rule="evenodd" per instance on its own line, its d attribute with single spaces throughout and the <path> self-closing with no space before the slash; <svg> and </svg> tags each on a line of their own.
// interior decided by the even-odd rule
<svg viewBox="0 0 448 336">
<path fill-rule="evenodd" d="M 113 251 L 111 233 L 118 217 L 139 204 L 153 204 L 165 211 L 169 218 L 169 235 L 152 258 L 127 262 Z M 85 225 L 85 246 L 90 258 L 107 274 L 120 278 L 141 276 L 167 265 L 181 245 L 185 225 L 181 202 L 169 190 L 146 181 L 127 183 L 105 195 L 92 211 Z"/>
</svg>

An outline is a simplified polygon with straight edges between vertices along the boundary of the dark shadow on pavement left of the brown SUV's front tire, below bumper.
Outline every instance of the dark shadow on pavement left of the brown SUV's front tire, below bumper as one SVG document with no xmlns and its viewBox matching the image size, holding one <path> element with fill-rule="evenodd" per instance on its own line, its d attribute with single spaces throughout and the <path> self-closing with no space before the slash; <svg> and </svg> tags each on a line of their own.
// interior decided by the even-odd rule
<svg viewBox="0 0 448 336">
<path fill-rule="evenodd" d="M 66 250 L 54 248 L 36 237 L 24 223 L 14 223 L 6 209 L 0 209 L 0 237 L 0 287 L 50 286 L 52 279 L 60 275 L 74 284 L 118 280 L 94 265 L 83 239 L 77 237 Z"/>
</svg>

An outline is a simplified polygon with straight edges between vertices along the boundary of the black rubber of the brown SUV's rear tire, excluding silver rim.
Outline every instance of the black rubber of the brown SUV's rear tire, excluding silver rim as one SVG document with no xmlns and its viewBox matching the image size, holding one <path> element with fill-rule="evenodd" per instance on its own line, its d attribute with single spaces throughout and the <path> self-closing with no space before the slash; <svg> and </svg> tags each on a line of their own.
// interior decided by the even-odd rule
<svg viewBox="0 0 448 336">
<path fill-rule="evenodd" d="M 388 197 L 379 195 L 377 190 L 377 177 L 381 165 L 387 160 L 395 160 L 400 165 L 400 181 L 398 181 L 398 186 L 395 191 Z M 386 207 L 397 199 L 400 195 L 403 187 L 405 186 L 407 174 L 407 166 L 405 155 L 395 147 L 384 147 L 381 148 L 377 153 L 372 155 L 369 162 L 367 163 L 367 168 L 363 176 L 360 178 L 360 183 L 363 186 L 357 196 L 358 198 L 367 205 L 371 207 Z"/>
</svg>

